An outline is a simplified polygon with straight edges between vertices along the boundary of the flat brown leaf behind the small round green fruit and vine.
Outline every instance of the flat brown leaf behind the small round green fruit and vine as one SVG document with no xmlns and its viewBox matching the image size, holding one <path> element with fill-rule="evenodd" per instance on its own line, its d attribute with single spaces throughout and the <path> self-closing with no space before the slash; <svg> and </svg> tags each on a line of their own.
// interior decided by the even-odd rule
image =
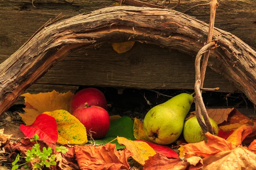
<svg viewBox="0 0 256 170">
<path fill-rule="evenodd" d="M 207 114 L 210 118 L 212 118 L 217 125 L 221 124 L 224 121 L 227 121 L 227 118 L 229 116 L 229 114 L 234 110 L 234 108 L 225 108 L 225 109 L 221 109 L 221 108 L 217 108 L 217 109 L 207 109 Z M 191 112 L 189 116 L 189 118 L 194 117 L 195 116 L 195 111 Z M 187 118 L 186 120 L 188 120 L 189 118 Z"/>
</svg>

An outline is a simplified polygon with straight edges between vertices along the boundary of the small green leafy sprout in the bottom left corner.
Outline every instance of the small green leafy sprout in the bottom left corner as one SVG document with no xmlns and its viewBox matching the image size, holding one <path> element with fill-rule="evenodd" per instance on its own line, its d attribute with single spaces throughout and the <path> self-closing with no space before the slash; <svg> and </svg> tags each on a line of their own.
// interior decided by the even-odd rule
<svg viewBox="0 0 256 170">
<path fill-rule="evenodd" d="M 52 154 L 51 147 L 43 147 L 43 150 L 40 150 L 40 144 L 38 144 L 39 136 L 37 134 L 34 135 L 33 139 L 30 141 L 35 141 L 36 143 L 32 147 L 31 150 L 27 150 L 26 156 L 22 157 L 20 154 L 17 154 L 15 161 L 12 162 L 12 170 L 17 170 L 19 167 L 23 166 L 28 168 L 28 163 L 31 162 L 33 164 L 32 170 L 42 170 L 43 167 L 50 167 L 51 165 L 56 165 L 56 155 Z M 55 150 L 60 153 L 66 153 L 68 149 L 64 146 L 56 146 Z M 23 164 L 17 164 L 20 158 L 25 158 L 26 162 Z"/>
</svg>

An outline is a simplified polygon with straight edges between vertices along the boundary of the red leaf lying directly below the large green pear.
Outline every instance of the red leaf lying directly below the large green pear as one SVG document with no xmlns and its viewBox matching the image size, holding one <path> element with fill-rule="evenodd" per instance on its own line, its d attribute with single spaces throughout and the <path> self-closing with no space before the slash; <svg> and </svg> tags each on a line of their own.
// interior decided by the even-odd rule
<svg viewBox="0 0 256 170">
<path fill-rule="evenodd" d="M 163 146 L 160 144 L 155 144 L 153 142 L 144 141 L 144 140 L 136 140 L 136 141 L 143 141 L 146 142 L 150 147 L 154 149 L 156 153 L 162 153 L 168 158 L 179 158 L 179 154 L 177 154 L 174 150 L 167 146 Z"/>
</svg>

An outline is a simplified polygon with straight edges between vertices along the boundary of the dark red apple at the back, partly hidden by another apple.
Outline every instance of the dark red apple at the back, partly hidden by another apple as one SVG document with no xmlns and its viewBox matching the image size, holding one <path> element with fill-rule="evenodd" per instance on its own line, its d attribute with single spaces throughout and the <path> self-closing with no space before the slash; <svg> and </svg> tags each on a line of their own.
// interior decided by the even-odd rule
<svg viewBox="0 0 256 170">
<path fill-rule="evenodd" d="M 70 112 L 73 113 L 77 108 L 84 107 L 84 103 L 107 109 L 107 100 L 104 94 L 96 88 L 84 88 L 74 94 L 70 101 Z"/>
</svg>

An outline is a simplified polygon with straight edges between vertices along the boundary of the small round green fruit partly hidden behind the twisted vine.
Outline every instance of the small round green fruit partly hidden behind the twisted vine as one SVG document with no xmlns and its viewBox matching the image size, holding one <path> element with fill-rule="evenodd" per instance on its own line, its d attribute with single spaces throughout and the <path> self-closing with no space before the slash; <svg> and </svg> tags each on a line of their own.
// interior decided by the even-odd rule
<svg viewBox="0 0 256 170">
<path fill-rule="evenodd" d="M 217 123 L 209 118 L 210 123 L 212 125 L 212 130 L 215 135 L 218 135 L 218 125 Z M 183 128 L 183 136 L 186 142 L 188 143 L 197 143 L 201 141 L 206 141 L 207 137 L 205 136 L 203 130 L 201 129 L 196 116 L 188 119 Z"/>
</svg>

